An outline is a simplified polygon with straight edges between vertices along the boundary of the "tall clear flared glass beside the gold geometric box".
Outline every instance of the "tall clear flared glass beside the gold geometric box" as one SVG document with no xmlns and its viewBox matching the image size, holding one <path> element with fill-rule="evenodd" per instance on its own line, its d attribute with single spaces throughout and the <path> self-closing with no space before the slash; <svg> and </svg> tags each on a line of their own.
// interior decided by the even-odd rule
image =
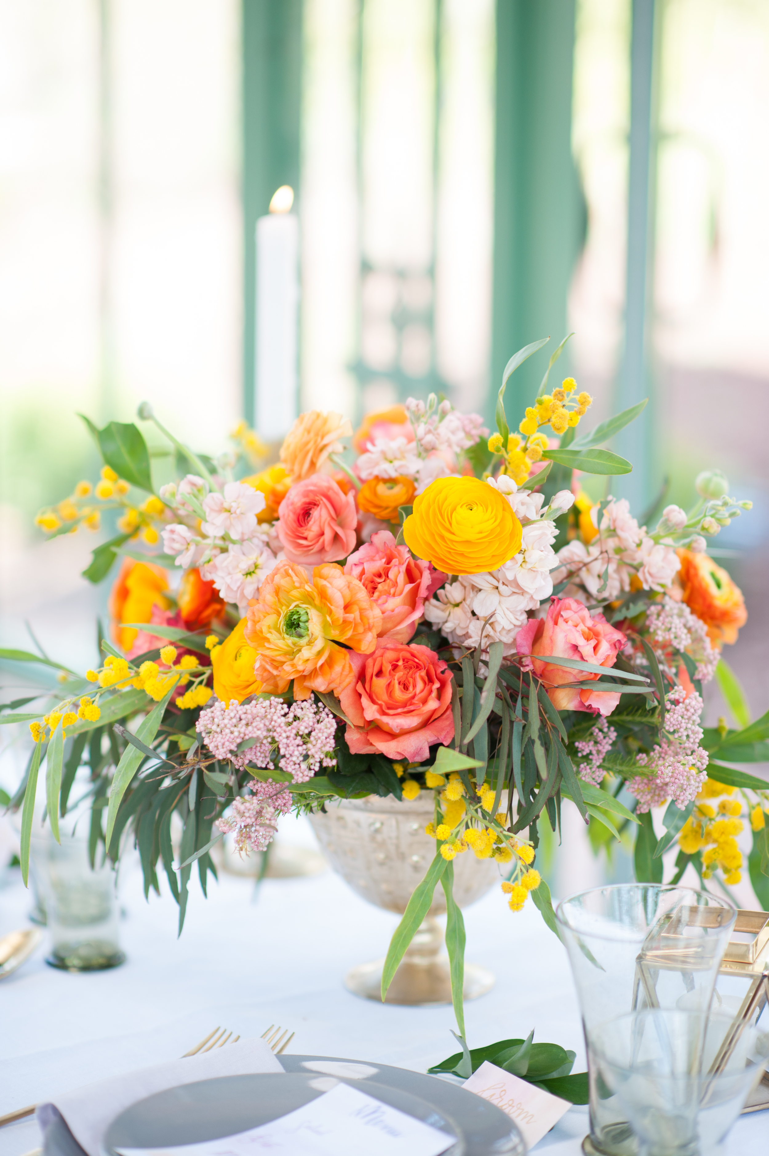
<svg viewBox="0 0 769 1156">
<path fill-rule="evenodd" d="M 621 883 L 564 899 L 556 918 L 585 1031 L 586 1147 L 606 1156 L 634 1156 L 638 1146 L 627 1112 L 598 1080 L 594 1032 L 644 1007 L 683 1006 L 707 1014 L 737 911 L 687 887 Z"/>
</svg>

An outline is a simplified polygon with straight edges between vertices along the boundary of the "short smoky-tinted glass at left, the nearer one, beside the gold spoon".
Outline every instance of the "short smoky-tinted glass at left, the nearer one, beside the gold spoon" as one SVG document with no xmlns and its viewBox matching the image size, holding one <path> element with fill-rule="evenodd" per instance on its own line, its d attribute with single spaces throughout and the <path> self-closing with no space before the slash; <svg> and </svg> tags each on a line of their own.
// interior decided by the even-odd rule
<svg viewBox="0 0 769 1156">
<path fill-rule="evenodd" d="M 61 832 L 58 844 L 49 832 L 45 905 L 51 933 L 46 963 L 65 971 L 102 971 L 125 961 L 118 938 L 114 872 L 99 855 L 91 868 L 88 839 Z"/>
</svg>

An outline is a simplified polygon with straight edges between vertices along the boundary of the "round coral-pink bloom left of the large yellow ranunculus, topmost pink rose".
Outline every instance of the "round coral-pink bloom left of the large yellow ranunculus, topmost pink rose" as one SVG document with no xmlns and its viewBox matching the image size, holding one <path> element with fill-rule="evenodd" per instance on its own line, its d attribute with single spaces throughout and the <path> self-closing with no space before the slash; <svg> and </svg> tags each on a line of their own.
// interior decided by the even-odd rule
<svg viewBox="0 0 769 1156">
<path fill-rule="evenodd" d="M 278 536 L 289 562 L 317 566 L 355 548 L 356 521 L 355 494 L 343 494 L 327 474 L 312 474 L 281 502 Z"/>
</svg>

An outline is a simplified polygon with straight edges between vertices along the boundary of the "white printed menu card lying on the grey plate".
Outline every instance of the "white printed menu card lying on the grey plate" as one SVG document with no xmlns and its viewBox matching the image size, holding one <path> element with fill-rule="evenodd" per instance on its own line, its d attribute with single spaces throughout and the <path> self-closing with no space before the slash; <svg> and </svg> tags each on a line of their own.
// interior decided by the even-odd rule
<svg viewBox="0 0 769 1156">
<path fill-rule="evenodd" d="M 550 1097 L 553 1098 L 553 1097 Z M 439 1156 L 457 1138 L 339 1083 L 317 1099 L 222 1140 L 119 1148 L 121 1156 Z"/>
</svg>

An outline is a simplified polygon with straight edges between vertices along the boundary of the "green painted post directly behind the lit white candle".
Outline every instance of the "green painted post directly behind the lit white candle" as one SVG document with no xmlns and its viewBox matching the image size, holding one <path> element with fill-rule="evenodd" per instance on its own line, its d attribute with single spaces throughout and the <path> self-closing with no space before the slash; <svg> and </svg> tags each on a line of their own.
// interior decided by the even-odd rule
<svg viewBox="0 0 769 1156">
<path fill-rule="evenodd" d="M 300 191 L 302 0 L 242 0 L 243 412 L 254 420 L 254 230 L 281 185 Z"/>
</svg>

